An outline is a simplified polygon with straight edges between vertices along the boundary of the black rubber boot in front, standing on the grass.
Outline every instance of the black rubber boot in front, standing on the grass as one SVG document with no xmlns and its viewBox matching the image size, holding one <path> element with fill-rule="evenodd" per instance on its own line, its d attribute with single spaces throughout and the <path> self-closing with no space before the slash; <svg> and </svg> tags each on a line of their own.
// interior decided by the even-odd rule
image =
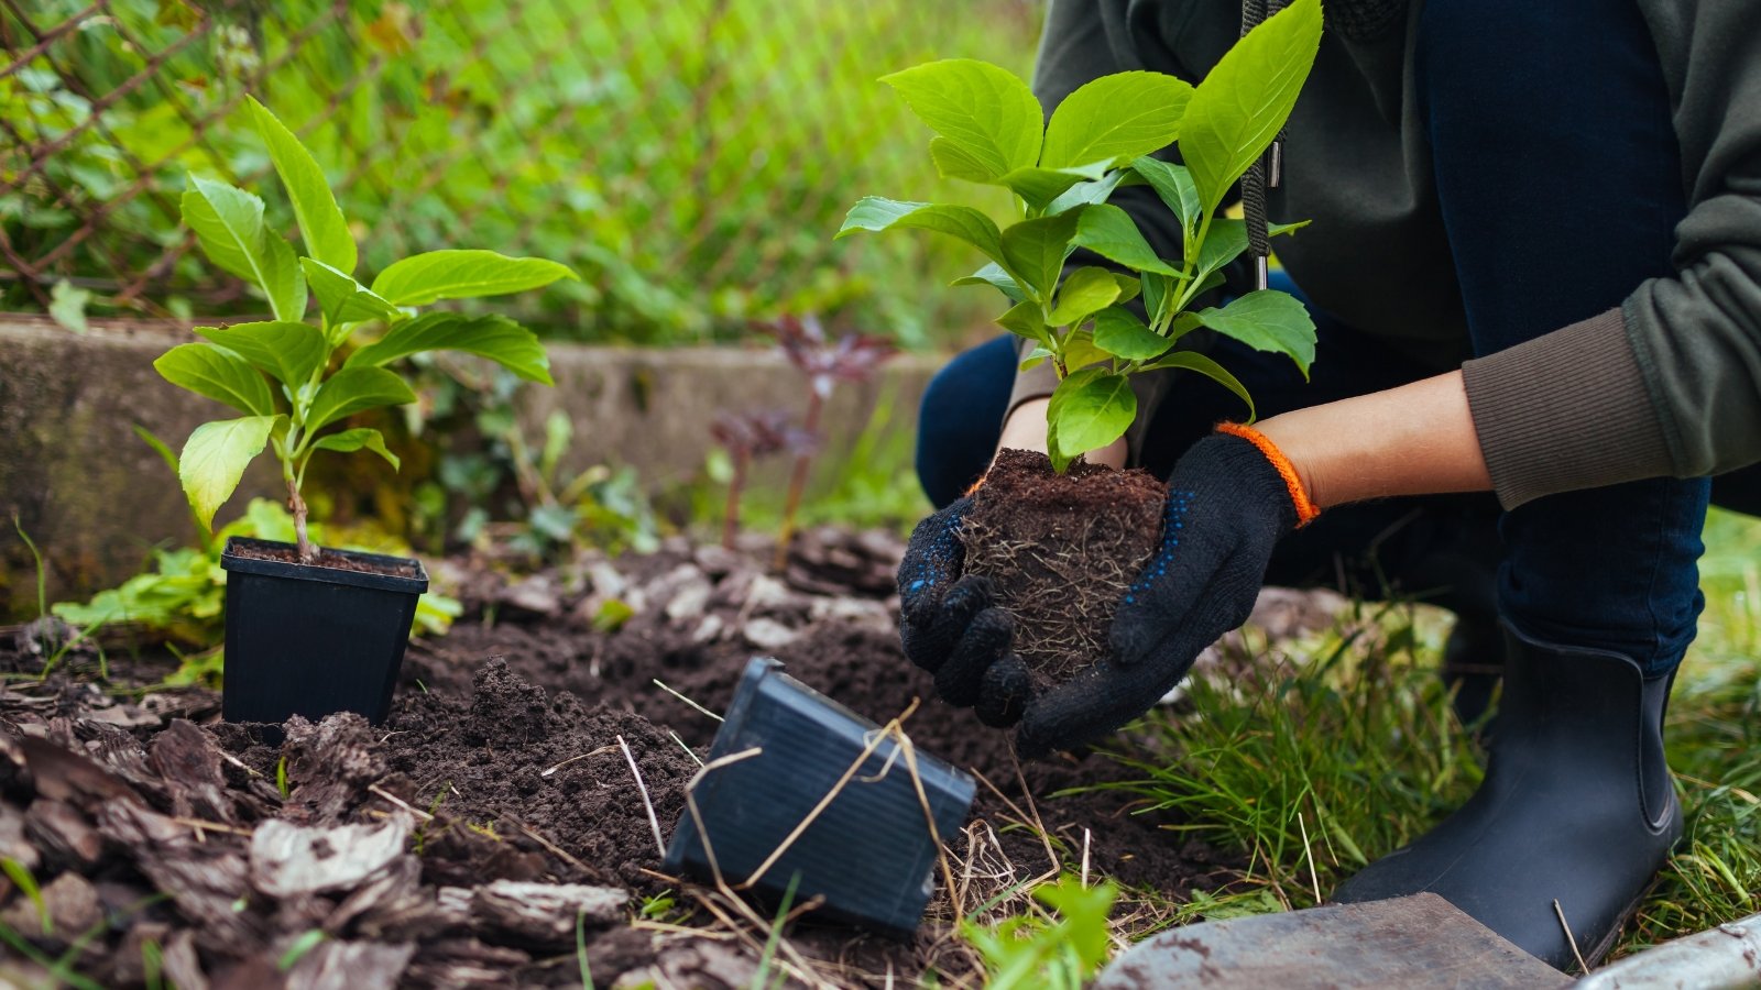
<svg viewBox="0 0 1761 990">
<path fill-rule="evenodd" d="M 1345 881 L 1349 904 L 1432 891 L 1518 948 L 1567 969 L 1571 923 L 1590 965 L 1682 835 L 1662 756 L 1673 678 L 1620 654 L 1527 639 L 1506 625 L 1486 779 L 1418 842 Z"/>
</svg>

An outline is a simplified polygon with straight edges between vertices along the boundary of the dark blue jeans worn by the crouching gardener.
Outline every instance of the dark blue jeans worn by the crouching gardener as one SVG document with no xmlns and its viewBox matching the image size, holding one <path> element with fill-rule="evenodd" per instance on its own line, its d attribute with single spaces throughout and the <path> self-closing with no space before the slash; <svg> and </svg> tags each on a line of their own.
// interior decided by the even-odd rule
<svg viewBox="0 0 1761 990">
<path fill-rule="evenodd" d="M 1671 275 L 1673 227 L 1685 213 L 1680 151 L 1638 7 L 1430 0 L 1419 18 L 1416 95 L 1472 351 L 1490 354 L 1592 317 L 1641 280 Z M 1280 287 L 1294 291 L 1287 280 Z M 1310 382 L 1286 358 L 1229 340 L 1212 351 L 1261 416 L 1426 375 L 1310 310 L 1319 336 Z M 917 474 L 937 506 L 990 462 L 1014 354 L 1011 338 L 967 351 L 925 393 Z M 1243 412 L 1208 379 L 1187 375 L 1150 423 L 1143 465 L 1166 474 L 1212 423 Z M 1613 650 L 1661 676 L 1682 661 L 1703 606 L 1696 562 L 1710 488 L 1706 479 L 1659 477 L 1550 495 L 1509 513 L 1490 495 L 1344 506 L 1286 539 L 1268 581 L 1344 583 L 1358 594 L 1398 583 L 1423 594 L 1495 562 L 1495 592 L 1463 580 L 1437 601 L 1463 615 L 1495 610 L 1537 639 Z M 1726 490 L 1750 499 L 1761 467 L 1720 479 Z"/>
</svg>

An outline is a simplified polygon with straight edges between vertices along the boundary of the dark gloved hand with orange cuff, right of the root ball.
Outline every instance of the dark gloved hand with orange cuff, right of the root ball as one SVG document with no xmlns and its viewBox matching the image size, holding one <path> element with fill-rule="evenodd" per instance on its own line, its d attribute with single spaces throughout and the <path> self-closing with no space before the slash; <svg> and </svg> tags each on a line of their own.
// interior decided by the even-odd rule
<svg viewBox="0 0 1761 990">
<path fill-rule="evenodd" d="M 1226 425 L 1194 444 L 1168 477 L 1162 543 L 1120 602 L 1111 655 L 1027 705 L 1021 756 L 1094 742 L 1148 712 L 1205 646 L 1247 622 L 1271 548 L 1315 514 L 1257 432 Z"/>
</svg>

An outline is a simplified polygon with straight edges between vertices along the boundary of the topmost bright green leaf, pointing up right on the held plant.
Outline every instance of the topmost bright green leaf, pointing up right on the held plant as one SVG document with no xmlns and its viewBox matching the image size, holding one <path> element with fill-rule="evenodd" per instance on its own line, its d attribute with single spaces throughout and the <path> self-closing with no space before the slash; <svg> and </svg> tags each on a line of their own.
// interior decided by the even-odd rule
<svg viewBox="0 0 1761 990">
<path fill-rule="evenodd" d="M 1321 48 L 1321 0 L 1294 0 L 1238 41 L 1199 83 L 1180 122 L 1180 157 L 1205 213 L 1264 153 L 1296 106 Z"/>
</svg>

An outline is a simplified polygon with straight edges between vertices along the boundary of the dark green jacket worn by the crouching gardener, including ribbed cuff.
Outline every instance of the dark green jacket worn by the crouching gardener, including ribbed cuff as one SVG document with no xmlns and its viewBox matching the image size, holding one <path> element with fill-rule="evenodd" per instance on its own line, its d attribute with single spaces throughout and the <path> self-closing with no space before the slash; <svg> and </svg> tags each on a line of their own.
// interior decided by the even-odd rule
<svg viewBox="0 0 1761 990">
<path fill-rule="evenodd" d="M 1439 373 L 1463 370 L 1506 507 L 1761 462 L 1761 0 L 1638 4 L 1682 150 L 1689 213 L 1676 271 L 1634 285 L 1620 308 L 1499 354 L 1467 359 L 1411 95 L 1411 32 L 1352 42 L 1330 25 L 1291 116 L 1271 215 L 1312 224 L 1278 241 L 1278 259 L 1317 307 Z M 1108 72 L 1196 81 L 1238 35 L 1240 7 L 1227 0 L 1053 0 L 1034 88 L 1050 109 Z M 1145 188 L 1115 203 L 1157 248 L 1178 252 L 1173 217 Z M 1046 365 L 1023 373 L 1011 409 L 1053 386 Z M 1145 382 L 1139 395 L 1153 402 L 1164 388 Z"/>
</svg>

